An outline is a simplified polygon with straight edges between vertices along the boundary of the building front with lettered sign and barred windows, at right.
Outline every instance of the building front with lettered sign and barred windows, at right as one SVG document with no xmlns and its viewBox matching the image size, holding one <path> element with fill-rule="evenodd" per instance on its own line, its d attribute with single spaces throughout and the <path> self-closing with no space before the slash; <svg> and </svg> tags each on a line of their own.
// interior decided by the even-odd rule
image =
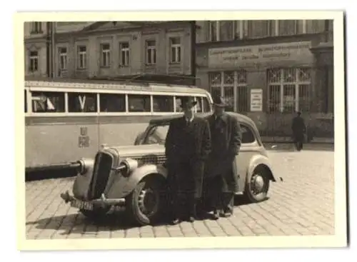
<svg viewBox="0 0 357 262">
<path fill-rule="evenodd" d="M 271 31 L 271 36 L 248 38 L 244 31 L 237 29 L 235 40 L 210 41 L 209 22 L 201 21 L 198 33 L 201 35 L 196 37 L 201 41 L 196 51 L 198 85 L 213 96 L 226 97 L 231 103 L 228 110 L 250 116 L 263 135 L 289 136 L 291 118 L 296 111 L 302 111 L 311 129 L 320 129 L 315 126 L 316 119 L 322 112 L 331 111 L 333 105 L 333 62 L 330 61 L 326 71 L 326 62 L 321 60 L 328 54 L 321 55 L 317 62 L 311 48 L 324 41 L 325 21 L 298 21 L 300 26 L 304 25 L 305 34 L 294 35 L 279 35 L 281 27 L 277 23 L 273 21 L 271 24 L 276 29 Z M 273 79 L 269 71 L 276 74 L 276 70 L 282 75 L 278 81 L 269 84 Z M 294 76 L 286 79 L 283 74 Z M 218 80 L 215 82 L 214 79 Z M 274 89 L 279 91 L 274 93 Z M 283 96 L 288 92 L 294 94 Z M 274 94 L 283 101 L 275 109 Z M 329 101 L 328 109 L 316 108 L 316 104 L 325 101 Z M 321 129 L 319 132 L 328 134 L 330 131 Z"/>
</svg>

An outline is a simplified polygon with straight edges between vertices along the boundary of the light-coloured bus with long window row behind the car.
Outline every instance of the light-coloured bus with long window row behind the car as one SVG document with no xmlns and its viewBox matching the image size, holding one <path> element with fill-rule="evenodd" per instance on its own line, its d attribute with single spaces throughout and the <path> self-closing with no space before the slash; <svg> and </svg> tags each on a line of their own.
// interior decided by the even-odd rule
<svg viewBox="0 0 357 262">
<path fill-rule="evenodd" d="M 196 86 L 149 81 L 25 79 L 26 173 L 65 168 L 103 144 L 133 145 L 149 119 L 181 114 L 181 97 L 211 112 Z"/>
</svg>

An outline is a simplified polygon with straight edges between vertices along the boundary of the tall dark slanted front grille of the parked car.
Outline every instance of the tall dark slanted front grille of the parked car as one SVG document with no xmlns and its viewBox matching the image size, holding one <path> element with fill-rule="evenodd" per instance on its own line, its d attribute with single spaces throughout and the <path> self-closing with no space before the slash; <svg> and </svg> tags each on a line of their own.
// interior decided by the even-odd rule
<svg viewBox="0 0 357 262">
<path fill-rule="evenodd" d="M 113 157 L 110 154 L 102 152 L 96 154 L 91 190 L 89 193 L 92 199 L 100 198 L 101 193 L 103 193 L 106 188 L 106 183 L 108 183 L 112 166 Z"/>
</svg>

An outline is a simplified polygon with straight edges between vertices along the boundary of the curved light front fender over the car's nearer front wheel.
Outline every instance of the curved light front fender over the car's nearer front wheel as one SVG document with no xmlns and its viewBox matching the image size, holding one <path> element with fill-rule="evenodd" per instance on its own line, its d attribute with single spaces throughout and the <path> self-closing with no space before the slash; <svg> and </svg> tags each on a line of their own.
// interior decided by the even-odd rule
<svg viewBox="0 0 357 262">
<path fill-rule="evenodd" d="M 114 182 L 107 188 L 106 196 L 109 198 L 124 198 L 136 188 L 138 183 L 146 176 L 158 174 L 162 178 L 167 178 L 167 169 L 161 165 L 146 164 L 132 171 L 129 176 L 117 176 Z"/>
</svg>

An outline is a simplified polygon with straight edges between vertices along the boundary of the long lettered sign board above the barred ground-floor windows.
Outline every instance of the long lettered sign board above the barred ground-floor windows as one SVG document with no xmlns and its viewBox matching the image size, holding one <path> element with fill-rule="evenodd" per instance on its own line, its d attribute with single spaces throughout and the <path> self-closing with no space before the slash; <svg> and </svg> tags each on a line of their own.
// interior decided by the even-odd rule
<svg viewBox="0 0 357 262">
<path fill-rule="evenodd" d="M 313 62 L 310 48 L 311 41 L 209 49 L 208 67 L 234 67 L 272 61 L 301 61 L 310 64 Z"/>
</svg>

